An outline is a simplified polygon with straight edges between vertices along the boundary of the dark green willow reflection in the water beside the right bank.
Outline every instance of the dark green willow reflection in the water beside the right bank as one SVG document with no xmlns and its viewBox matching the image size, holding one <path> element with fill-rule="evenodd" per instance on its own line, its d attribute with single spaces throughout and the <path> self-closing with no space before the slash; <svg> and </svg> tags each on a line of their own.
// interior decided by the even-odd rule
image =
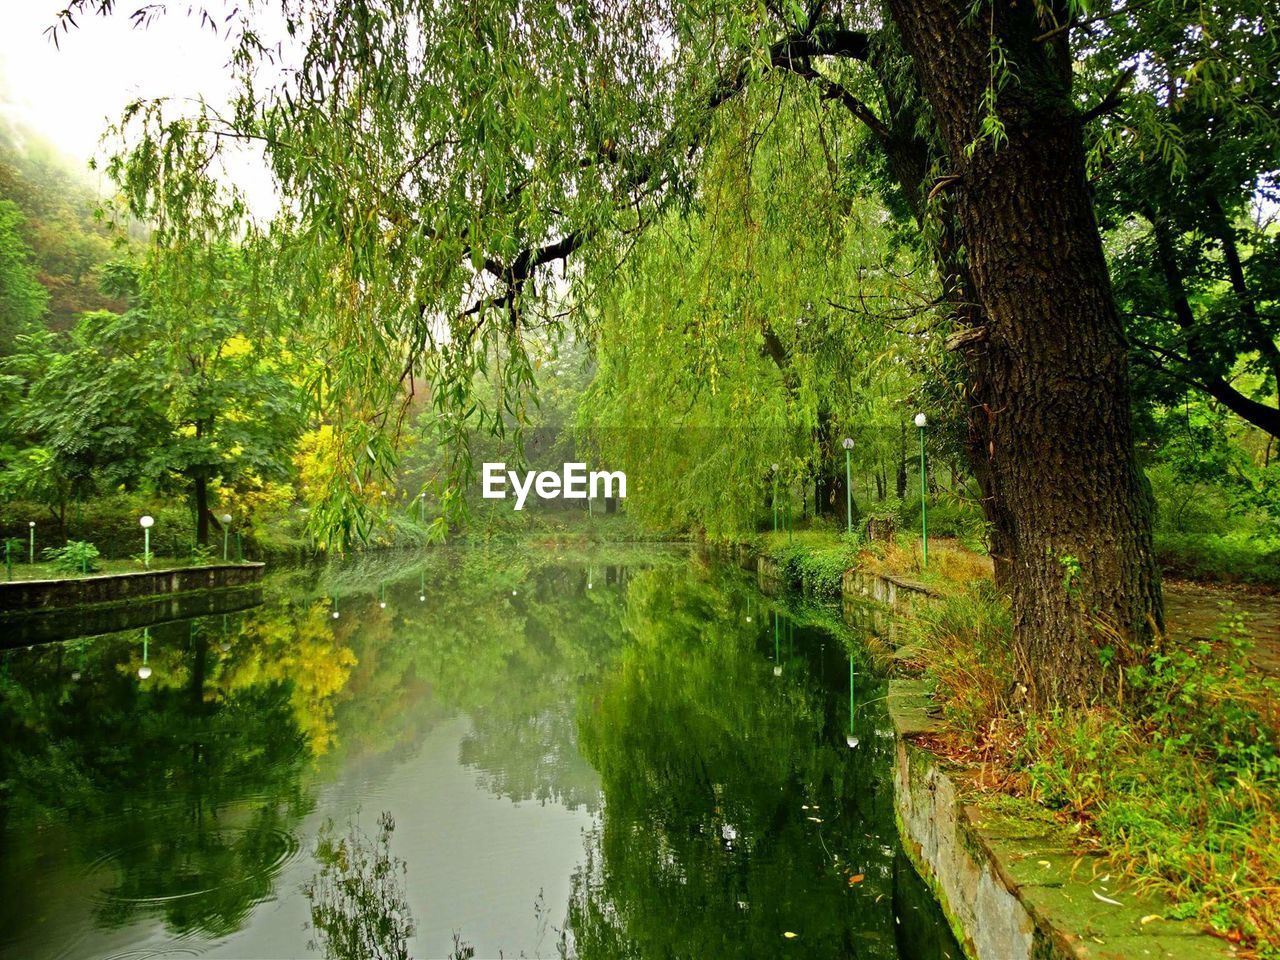
<svg viewBox="0 0 1280 960">
<path fill-rule="evenodd" d="M 896 957 L 890 741 L 850 754 L 851 700 L 822 684 L 842 654 L 786 611 L 762 637 L 723 616 L 726 590 L 632 584 L 632 641 L 580 714 L 607 808 L 575 878 L 577 950 Z"/>
</svg>

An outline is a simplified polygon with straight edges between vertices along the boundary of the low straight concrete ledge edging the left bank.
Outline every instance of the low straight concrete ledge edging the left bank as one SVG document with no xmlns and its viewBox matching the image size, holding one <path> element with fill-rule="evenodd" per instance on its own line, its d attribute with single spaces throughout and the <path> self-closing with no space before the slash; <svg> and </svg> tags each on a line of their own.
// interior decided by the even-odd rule
<svg viewBox="0 0 1280 960">
<path fill-rule="evenodd" d="M 67 580 L 13 580 L 0 582 L 0 618 L 32 611 L 119 603 L 138 596 L 248 586 L 262 579 L 262 567 L 261 563 L 211 563 Z"/>
</svg>

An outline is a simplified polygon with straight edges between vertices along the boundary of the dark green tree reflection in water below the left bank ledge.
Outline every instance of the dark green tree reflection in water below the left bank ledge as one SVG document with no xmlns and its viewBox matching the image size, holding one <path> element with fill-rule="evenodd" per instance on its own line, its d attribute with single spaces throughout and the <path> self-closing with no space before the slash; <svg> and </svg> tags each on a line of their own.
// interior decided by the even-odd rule
<svg viewBox="0 0 1280 960">
<path fill-rule="evenodd" d="M 0 678 L 0 929 L 69 890 L 100 928 L 239 928 L 297 852 L 305 732 L 284 682 L 244 682 L 207 622 L 33 648 Z M 44 952 L 32 945 L 27 956 Z"/>
</svg>

